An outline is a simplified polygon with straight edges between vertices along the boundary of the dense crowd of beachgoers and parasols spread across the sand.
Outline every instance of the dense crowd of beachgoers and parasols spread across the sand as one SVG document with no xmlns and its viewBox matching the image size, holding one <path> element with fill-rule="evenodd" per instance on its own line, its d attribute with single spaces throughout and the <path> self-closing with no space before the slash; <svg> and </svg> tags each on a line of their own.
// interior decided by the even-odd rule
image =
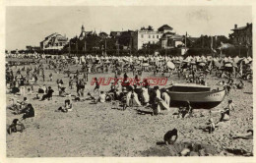
<svg viewBox="0 0 256 163">
<path fill-rule="evenodd" d="M 8 57 L 10 58 L 10 56 Z M 121 110 L 126 110 L 128 107 L 152 108 L 152 115 L 160 115 L 161 112 L 168 112 L 170 110 L 171 96 L 168 94 L 169 89 L 167 87 L 160 88 L 158 85 L 152 87 L 147 80 L 139 81 L 138 79 L 142 78 L 144 72 L 151 71 L 155 76 L 164 76 L 166 73 L 169 73 L 171 76 L 176 73 L 178 78 L 182 78 L 186 82 L 207 85 L 206 78 L 212 75 L 214 70 L 216 77 L 220 78 L 217 84 L 224 86 L 227 95 L 232 88 L 242 89 L 244 87 L 243 80 L 251 80 L 247 76 L 244 77 L 244 74 L 248 75 L 248 71 L 252 73 L 251 58 L 237 59 L 237 57 L 213 58 L 188 56 L 184 59 L 182 57 L 161 56 L 97 57 L 91 55 L 80 58 L 63 58 L 63 56 L 59 58 L 51 56 L 49 58 L 40 55 L 36 55 L 36 57 L 45 61 L 45 63 L 42 64 L 40 62 L 34 65 L 33 69 L 32 65 L 23 66 L 23 68 L 12 67 L 8 64 L 6 66 L 6 83 L 10 89 L 9 93 L 24 96 L 22 102 L 15 101 L 14 98 L 12 99 L 13 103 L 10 109 L 13 110 L 14 114 L 22 114 L 23 116 L 21 119 L 13 120 L 8 128 L 9 134 L 23 131 L 25 126 L 22 122 L 34 117 L 34 109 L 32 104 L 27 100 L 27 94 L 35 94 L 34 100 L 44 101 L 51 100 L 53 93 L 55 91 L 58 92 L 58 96 L 64 99 L 64 106 L 60 106 L 56 111 L 64 113 L 77 109 L 74 108 L 72 101 L 84 102 L 85 100 L 91 100 L 94 103 L 109 102 L 112 105 L 117 103 L 117 107 L 120 105 Z M 172 63 L 174 67 L 169 66 L 170 64 L 168 63 Z M 81 66 L 76 71 L 70 71 L 71 65 Z M 50 71 L 48 78 L 45 77 L 45 70 Z M 132 85 L 129 84 L 129 72 L 132 72 L 132 77 L 130 78 L 138 80 L 138 82 Z M 100 81 L 95 78 L 95 87 L 92 87 L 91 91 L 85 92 L 89 76 L 96 73 L 112 73 L 109 76 L 112 76 L 116 81 L 111 82 L 107 91 L 103 91 L 100 89 Z M 65 83 L 62 79 L 55 79 L 55 74 L 67 75 L 69 79 L 68 87 L 64 86 Z M 34 85 L 37 84 L 38 78 L 41 78 L 43 82 L 49 81 L 52 84 L 56 81 L 57 90 L 45 84 L 39 85 L 38 90 L 35 90 Z M 118 81 L 120 78 L 123 80 Z M 234 79 L 239 79 L 239 82 L 235 83 Z M 74 88 L 76 88 L 76 94 L 68 92 Z M 72 96 L 74 96 L 73 99 L 71 99 Z M 220 121 L 215 123 L 210 116 L 206 126 L 200 129 L 213 134 L 215 129 L 222 123 L 230 120 L 230 113 L 233 110 L 233 101 L 230 99 L 224 110 L 220 111 Z M 211 111 L 210 113 L 213 114 Z M 185 105 L 180 106 L 177 114 L 178 118 L 193 117 L 193 108 L 191 107 L 190 101 L 186 101 Z M 18 126 L 21 127 L 21 130 L 18 130 Z M 178 131 L 174 129 L 164 136 L 164 141 L 167 144 L 172 144 L 178 138 L 177 135 Z"/>
</svg>

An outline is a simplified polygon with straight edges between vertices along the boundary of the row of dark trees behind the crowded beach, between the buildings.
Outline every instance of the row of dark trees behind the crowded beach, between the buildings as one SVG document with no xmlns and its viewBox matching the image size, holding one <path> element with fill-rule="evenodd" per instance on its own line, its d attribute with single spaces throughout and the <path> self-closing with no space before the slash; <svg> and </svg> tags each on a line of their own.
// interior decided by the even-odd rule
<svg viewBox="0 0 256 163">
<path fill-rule="evenodd" d="M 141 27 L 141 30 L 154 30 L 153 27 Z M 180 45 L 178 47 L 172 49 L 162 49 L 160 42 L 157 44 L 144 44 L 142 49 L 136 50 L 133 48 L 133 31 L 127 30 L 120 32 L 120 35 L 113 34 L 108 36 L 105 32 L 100 32 L 96 34 L 96 32 L 89 32 L 85 37 L 75 36 L 70 39 L 69 43 L 64 46 L 61 51 L 58 50 L 36 50 L 37 53 L 47 53 L 47 54 L 76 54 L 76 55 L 85 55 L 85 54 L 107 54 L 107 55 L 152 55 L 157 51 L 160 55 L 180 55 L 181 49 L 180 47 L 185 45 Z M 206 55 L 213 54 L 213 49 L 217 51 L 217 53 L 221 53 L 218 50 L 218 47 L 223 43 L 231 43 L 230 39 L 225 37 L 224 35 L 219 36 L 208 36 L 201 35 L 199 38 L 191 38 L 187 37 L 185 40 L 185 35 L 183 35 L 183 43 L 186 47 L 189 48 L 187 51 L 187 55 Z M 19 51 L 25 53 L 31 53 L 33 51 Z M 245 47 L 232 47 L 227 48 L 222 51 L 224 54 L 233 56 L 240 55 L 246 56 L 248 53 L 251 54 L 251 51 Z M 12 51 L 12 53 L 16 53 L 16 51 Z M 250 55 L 249 54 L 249 55 Z"/>
</svg>

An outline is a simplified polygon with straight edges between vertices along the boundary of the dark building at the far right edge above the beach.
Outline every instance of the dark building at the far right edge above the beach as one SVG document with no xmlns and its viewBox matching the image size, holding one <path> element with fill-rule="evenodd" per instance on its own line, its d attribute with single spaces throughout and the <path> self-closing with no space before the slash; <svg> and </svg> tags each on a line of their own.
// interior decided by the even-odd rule
<svg viewBox="0 0 256 163">
<path fill-rule="evenodd" d="M 234 45 L 251 46 L 252 45 L 252 24 L 246 24 L 245 27 L 234 25 L 233 33 L 229 37 Z"/>
</svg>

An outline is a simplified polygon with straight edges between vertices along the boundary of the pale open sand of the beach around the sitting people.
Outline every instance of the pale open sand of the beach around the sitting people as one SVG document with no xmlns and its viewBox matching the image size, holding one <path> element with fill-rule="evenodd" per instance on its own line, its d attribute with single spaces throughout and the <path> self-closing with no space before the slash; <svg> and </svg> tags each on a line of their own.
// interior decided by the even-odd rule
<svg viewBox="0 0 256 163">
<path fill-rule="evenodd" d="M 18 67 L 21 68 L 21 67 Z M 13 67 L 13 71 L 17 69 Z M 32 66 L 33 68 L 33 66 Z M 75 72 L 80 66 L 72 66 Z M 76 94 L 76 88 L 68 88 L 67 75 L 53 73 L 53 81 L 48 81 L 48 75 L 52 70 L 45 70 L 45 82 L 38 78 L 38 86 L 45 83 L 54 89 L 52 100 L 33 100 L 36 92 L 27 95 L 35 111 L 35 117 L 25 120 L 26 130 L 23 133 L 7 135 L 8 157 L 95 157 L 95 156 L 173 156 L 182 149 L 184 142 L 203 144 L 212 155 L 233 155 L 233 149 L 243 149 L 253 152 L 252 139 L 230 139 L 229 135 L 235 133 L 245 134 L 253 129 L 253 95 L 252 83 L 244 81 L 243 89 L 231 89 L 224 101 L 213 111 L 224 109 L 228 99 L 234 102 L 235 110 L 230 112 L 230 121 L 224 123 L 213 134 L 205 133 L 198 128 L 205 126 L 209 120 L 209 110 L 198 109 L 194 111 L 194 117 L 176 119 L 173 113 L 177 108 L 171 108 L 170 112 L 160 116 L 151 114 L 141 115 L 138 110 L 152 112 L 151 108 L 128 107 L 125 111 L 115 108 L 111 103 L 93 104 L 91 101 L 73 102 L 72 112 L 55 112 L 64 105 L 66 97 L 58 96 L 57 79 L 64 81 L 67 92 Z M 22 72 L 25 74 L 26 72 Z M 169 74 L 165 74 L 168 76 Z M 123 74 L 121 75 L 123 76 Z M 153 76 L 153 72 L 144 72 L 143 77 Z M 160 76 L 160 75 L 159 75 Z M 80 76 L 82 78 L 82 75 Z M 93 92 L 95 86 L 91 85 L 92 78 L 114 77 L 113 73 L 90 74 L 85 88 L 85 94 Z M 132 77 L 132 73 L 128 73 Z M 170 81 L 185 82 L 179 80 L 176 74 L 168 78 Z M 207 77 L 207 83 L 217 87 L 220 79 L 214 75 Z M 235 82 L 238 82 L 235 79 Z M 162 86 L 161 86 L 162 87 Z M 101 86 L 100 90 L 109 90 L 110 85 Z M 13 94 L 7 93 L 7 106 Z M 17 95 L 22 100 L 24 96 Z M 74 97 L 71 97 L 74 98 Z M 221 118 L 220 113 L 213 113 L 215 122 Z M 7 109 L 6 121 L 11 124 L 14 118 L 21 115 L 12 114 Z M 160 145 L 163 135 L 173 128 L 178 130 L 178 139 L 175 145 Z M 226 150 L 231 149 L 231 150 Z"/>
</svg>

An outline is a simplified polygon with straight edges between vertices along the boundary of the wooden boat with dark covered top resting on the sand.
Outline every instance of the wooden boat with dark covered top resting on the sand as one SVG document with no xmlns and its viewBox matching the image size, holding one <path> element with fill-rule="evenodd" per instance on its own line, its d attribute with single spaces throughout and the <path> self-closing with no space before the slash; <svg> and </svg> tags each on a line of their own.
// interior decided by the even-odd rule
<svg viewBox="0 0 256 163">
<path fill-rule="evenodd" d="M 188 91 L 185 91 L 186 88 Z M 211 109 L 218 106 L 225 95 L 225 89 L 210 91 L 210 87 L 196 84 L 173 85 L 168 90 L 170 106 L 174 107 L 184 106 L 189 101 L 192 108 Z"/>
</svg>

